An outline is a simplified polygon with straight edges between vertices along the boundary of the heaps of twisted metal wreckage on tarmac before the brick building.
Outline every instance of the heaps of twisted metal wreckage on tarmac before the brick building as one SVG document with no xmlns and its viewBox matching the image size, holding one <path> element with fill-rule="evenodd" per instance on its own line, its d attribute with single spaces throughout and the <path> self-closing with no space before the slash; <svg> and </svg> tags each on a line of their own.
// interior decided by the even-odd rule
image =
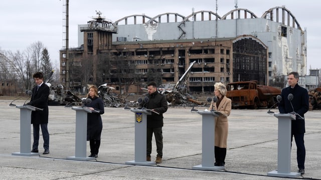
<svg viewBox="0 0 321 180">
<path fill-rule="evenodd" d="M 169 105 L 204 105 L 203 102 L 199 102 L 196 98 L 189 93 L 186 93 L 186 79 L 192 66 L 196 63 L 193 61 L 182 77 L 176 84 L 162 84 L 158 87 L 158 91 L 166 96 Z M 70 90 L 64 89 L 62 84 L 57 86 L 51 85 L 48 81 L 54 71 L 49 74 L 49 78 L 46 84 L 50 87 L 49 105 L 81 105 L 82 98 L 78 97 Z M 105 106 L 107 107 L 130 107 L 138 106 L 137 101 L 128 101 L 129 95 L 135 95 L 135 93 L 129 93 L 126 97 L 122 97 L 122 94 L 116 94 L 113 92 L 115 88 L 107 86 L 107 83 L 98 86 L 98 95 L 103 99 Z M 141 88 L 143 91 L 147 91 L 146 88 Z M 143 95 L 146 95 L 144 93 Z"/>
</svg>

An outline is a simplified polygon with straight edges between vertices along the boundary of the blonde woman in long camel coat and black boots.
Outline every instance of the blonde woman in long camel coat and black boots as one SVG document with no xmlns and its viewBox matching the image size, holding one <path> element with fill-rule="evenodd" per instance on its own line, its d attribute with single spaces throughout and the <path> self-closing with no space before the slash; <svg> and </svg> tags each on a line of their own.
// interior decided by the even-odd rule
<svg viewBox="0 0 321 180">
<path fill-rule="evenodd" d="M 230 115 L 232 103 L 231 99 L 227 98 L 226 87 L 221 82 L 214 84 L 214 95 L 217 96 L 217 102 L 212 101 L 209 110 L 220 111 L 222 115 L 215 117 L 215 166 L 225 165 L 227 134 L 229 123 L 227 116 Z"/>
</svg>

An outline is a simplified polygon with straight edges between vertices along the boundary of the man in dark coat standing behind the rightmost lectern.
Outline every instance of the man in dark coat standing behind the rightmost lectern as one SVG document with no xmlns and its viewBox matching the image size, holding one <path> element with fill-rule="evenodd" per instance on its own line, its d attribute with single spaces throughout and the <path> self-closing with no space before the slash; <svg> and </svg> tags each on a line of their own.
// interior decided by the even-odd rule
<svg viewBox="0 0 321 180">
<path fill-rule="evenodd" d="M 291 120 L 291 142 L 294 136 L 296 143 L 296 160 L 299 168 L 298 172 L 304 174 L 304 161 L 305 161 L 305 146 L 304 146 L 304 133 L 305 121 L 304 113 L 309 108 L 309 95 L 307 89 L 297 84 L 299 74 L 297 72 L 290 72 L 287 76 L 289 86 L 282 89 L 282 100 L 279 103 L 280 113 L 295 113 L 295 120 Z M 289 94 L 293 95 L 293 99 L 288 99 Z M 292 107 L 293 105 L 293 107 Z"/>
</svg>

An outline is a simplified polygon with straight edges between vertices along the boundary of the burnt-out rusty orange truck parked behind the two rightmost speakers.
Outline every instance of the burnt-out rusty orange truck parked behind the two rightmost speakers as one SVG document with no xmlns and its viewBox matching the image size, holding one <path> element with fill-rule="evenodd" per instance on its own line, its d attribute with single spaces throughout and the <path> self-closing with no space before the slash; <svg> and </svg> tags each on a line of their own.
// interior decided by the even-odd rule
<svg viewBox="0 0 321 180">
<path fill-rule="evenodd" d="M 232 108 L 258 108 L 273 106 L 279 94 L 279 88 L 250 80 L 228 83 L 226 96 L 232 100 Z"/>
</svg>

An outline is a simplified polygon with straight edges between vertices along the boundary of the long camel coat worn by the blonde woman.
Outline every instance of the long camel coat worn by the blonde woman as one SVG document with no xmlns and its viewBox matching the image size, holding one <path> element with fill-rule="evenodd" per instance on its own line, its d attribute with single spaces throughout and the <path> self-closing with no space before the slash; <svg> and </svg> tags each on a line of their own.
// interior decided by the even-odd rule
<svg viewBox="0 0 321 180">
<path fill-rule="evenodd" d="M 227 116 L 231 113 L 232 101 L 226 96 L 223 97 L 218 108 L 216 108 L 216 102 L 212 101 L 209 110 L 220 111 L 224 115 L 215 117 L 215 146 L 226 148 L 227 147 L 227 134 L 229 123 Z"/>
</svg>

